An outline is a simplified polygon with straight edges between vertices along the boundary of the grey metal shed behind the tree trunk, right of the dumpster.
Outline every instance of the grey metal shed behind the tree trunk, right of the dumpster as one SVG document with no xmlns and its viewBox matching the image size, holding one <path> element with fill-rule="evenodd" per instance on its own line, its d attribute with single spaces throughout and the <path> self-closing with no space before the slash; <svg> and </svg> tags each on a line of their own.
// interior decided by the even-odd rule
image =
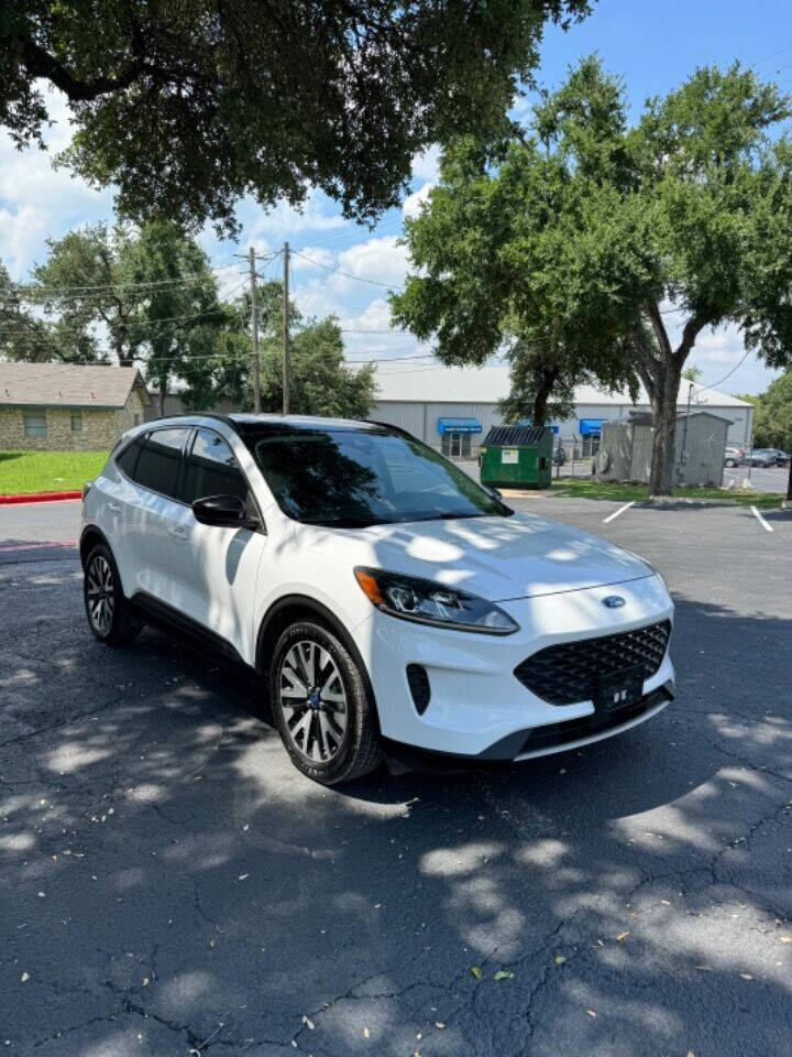
<svg viewBox="0 0 792 1057">
<path fill-rule="evenodd" d="M 726 437 L 730 419 L 708 411 L 676 416 L 673 483 L 719 486 L 723 480 Z M 628 422 L 605 422 L 597 477 L 608 481 L 649 480 L 652 456 L 652 417 L 634 413 Z"/>
</svg>

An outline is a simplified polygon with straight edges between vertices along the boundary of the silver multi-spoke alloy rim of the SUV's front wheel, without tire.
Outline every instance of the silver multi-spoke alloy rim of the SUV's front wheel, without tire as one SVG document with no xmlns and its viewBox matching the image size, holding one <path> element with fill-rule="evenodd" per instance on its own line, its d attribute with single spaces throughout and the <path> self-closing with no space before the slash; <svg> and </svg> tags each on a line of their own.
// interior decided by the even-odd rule
<svg viewBox="0 0 792 1057">
<path fill-rule="evenodd" d="M 280 662 L 278 686 L 293 747 L 311 763 L 328 763 L 349 720 L 346 690 L 330 652 L 317 642 L 296 642 Z"/>
</svg>

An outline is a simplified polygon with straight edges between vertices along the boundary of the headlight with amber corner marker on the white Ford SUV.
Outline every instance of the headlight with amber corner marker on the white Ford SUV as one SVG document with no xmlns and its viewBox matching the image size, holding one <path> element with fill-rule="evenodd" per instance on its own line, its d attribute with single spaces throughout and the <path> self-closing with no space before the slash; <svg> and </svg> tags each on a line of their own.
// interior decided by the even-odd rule
<svg viewBox="0 0 792 1057">
<path fill-rule="evenodd" d="M 485 635 L 510 635 L 519 628 L 497 606 L 454 587 L 360 566 L 354 574 L 366 598 L 392 617 Z"/>
</svg>

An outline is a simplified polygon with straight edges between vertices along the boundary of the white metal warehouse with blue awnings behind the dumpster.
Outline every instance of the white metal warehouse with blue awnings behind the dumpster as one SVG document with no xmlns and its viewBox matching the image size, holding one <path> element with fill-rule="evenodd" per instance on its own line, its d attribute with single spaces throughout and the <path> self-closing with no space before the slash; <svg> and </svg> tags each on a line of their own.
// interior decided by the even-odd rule
<svg viewBox="0 0 792 1057">
<path fill-rule="evenodd" d="M 378 394 L 370 417 L 407 429 L 452 458 L 475 458 L 490 426 L 503 422 L 498 402 L 508 394 L 507 367 L 439 367 L 394 361 L 377 366 Z M 680 388 L 678 407 L 688 405 L 689 382 Z M 744 400 L 693 385 L 691 411 L 706 410 L 730 423 L 728 443 L 750 443 L 754 407 Z M 591 385 L 575 390 L 572 417 L 553 422 L 553 433 L 578 442 L 581 454 L 597 450 L 604 422 L 626 421 L 631 411 L 650 411 L 641 390 L 638 402 L 628 393 L 600 392 Z"/>
</svg>

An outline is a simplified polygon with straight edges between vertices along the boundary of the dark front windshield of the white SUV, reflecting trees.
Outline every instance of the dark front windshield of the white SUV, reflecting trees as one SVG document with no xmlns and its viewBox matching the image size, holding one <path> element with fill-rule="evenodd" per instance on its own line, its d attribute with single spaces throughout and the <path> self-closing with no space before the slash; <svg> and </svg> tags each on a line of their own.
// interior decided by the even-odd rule
<svg viewBox="0 0 792 1057">
<path fill-rule="evenodd" d="M 437 451 L 383 429 L 245 436 L 280 510 L 295 521 L 364 527 L 513 513 Z"/>
</svg>

